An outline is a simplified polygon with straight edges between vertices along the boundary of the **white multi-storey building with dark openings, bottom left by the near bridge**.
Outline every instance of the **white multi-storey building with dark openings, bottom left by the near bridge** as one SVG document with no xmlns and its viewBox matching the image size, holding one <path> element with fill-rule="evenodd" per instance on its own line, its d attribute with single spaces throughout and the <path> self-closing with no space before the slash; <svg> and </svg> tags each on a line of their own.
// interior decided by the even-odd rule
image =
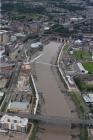
<svg viewBox="0 0 93 140">
<path fill-rule="evenodd" d="M 27 132 L 28 119 L 17 116 L 4 115 L 0 120 L 0 130 L 15 130 L 19 132 Z"/>
</svg>

